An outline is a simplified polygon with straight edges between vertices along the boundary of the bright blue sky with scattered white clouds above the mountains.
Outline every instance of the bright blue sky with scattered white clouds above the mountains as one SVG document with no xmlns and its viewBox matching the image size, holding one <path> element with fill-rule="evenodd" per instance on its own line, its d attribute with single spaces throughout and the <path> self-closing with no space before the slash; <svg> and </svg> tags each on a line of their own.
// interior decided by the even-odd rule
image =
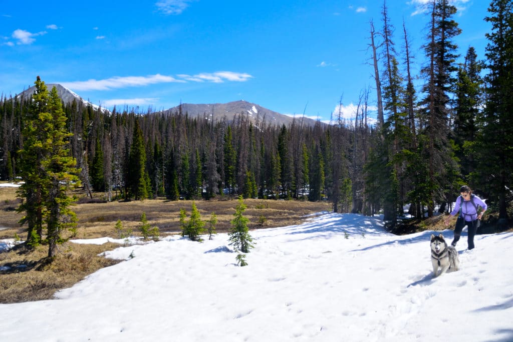
<svg viewBox="0 0 513 342">
<path fill-rule="evenodd" d="M 416 56 L 424 58 L 426 0 L 388 0 L 393 39 L 402 51 L 403 19 Z M 484 58 L 487 0 L 458 0 L 469 46 Z M 14 95 L 37 75 L 96 105 L 168 109 L 182 103 L 244 99 L 284 114 L 329 120 L 351 113 L 374 81 L 369 22 L 380 29 L 378 0 L 142 2 L 26 1 L 0 9 L 0 92 Z"/>
</svg>

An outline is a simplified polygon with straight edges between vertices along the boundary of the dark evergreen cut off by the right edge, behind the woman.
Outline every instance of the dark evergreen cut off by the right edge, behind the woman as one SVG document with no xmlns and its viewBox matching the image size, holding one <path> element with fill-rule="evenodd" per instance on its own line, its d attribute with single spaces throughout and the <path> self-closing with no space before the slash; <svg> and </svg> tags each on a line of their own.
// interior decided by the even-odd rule
<svg viewBox="0 0 513 342">
<path fill-rule="evenodd" d="M 497 204 L 501 228 L 507 226 L 508 204 L 513 200 L 513 1 L 492 0 L 488 8 L 491 24 L 486 34 L 487 68 L 486 107 L 482 118 L 482 134 L 477 136 L 473 148 L 478 170 L 473 181 L 490 194 Z M 500 153 L 497 151 L 500 150 Z"/>
</svg>

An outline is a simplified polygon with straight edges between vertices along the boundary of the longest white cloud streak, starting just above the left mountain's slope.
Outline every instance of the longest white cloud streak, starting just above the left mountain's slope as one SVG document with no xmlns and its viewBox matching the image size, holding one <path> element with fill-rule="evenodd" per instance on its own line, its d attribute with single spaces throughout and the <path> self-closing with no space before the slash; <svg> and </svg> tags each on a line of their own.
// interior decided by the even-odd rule
<svg viewBox="0 0 513 342">
<path fill-rule="evenodd" d="M 172 76 L 161 74 L 149 76 L 115 76 L 106 79 L 89 79 L 88 81 L 62 82 L 61 84 L 73 90 L 110 90 L 126 87 L 144 87 L 150 84 L 185 82 Z"/>
</svg>

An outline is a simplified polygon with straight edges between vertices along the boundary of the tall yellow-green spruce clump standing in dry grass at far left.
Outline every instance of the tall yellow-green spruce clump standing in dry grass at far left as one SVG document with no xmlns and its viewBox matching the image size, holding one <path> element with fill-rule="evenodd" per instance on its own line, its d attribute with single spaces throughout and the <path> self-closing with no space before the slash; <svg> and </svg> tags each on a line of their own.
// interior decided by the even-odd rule
<svg viewBox="0 0 513 342">
<path fill-rule="evenodd" d="M 48 256 L 53 257 L 57 245 L 64 242 L 66 229 L 73 230 L 76 214 L 70 209 L 73 198 L 70 188 L 80 186 L 76 160 L 70 156 L 66 115 L 57 89 L 48 94 L 47 87 L 37 76 L 31 112 L 25 117 L 25 141 L 22 151 L 22 177 L 25 184 L 18 195 L 24 198 L 19 207 L 25 211 L 29 246 L 37 245 L 46 223 Z"/>
</svg>

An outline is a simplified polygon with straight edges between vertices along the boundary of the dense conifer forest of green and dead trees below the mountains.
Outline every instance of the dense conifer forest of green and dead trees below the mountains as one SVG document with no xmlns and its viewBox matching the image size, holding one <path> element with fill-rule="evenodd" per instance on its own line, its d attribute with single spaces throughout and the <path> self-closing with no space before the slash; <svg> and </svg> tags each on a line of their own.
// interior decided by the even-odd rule
<svg viewBox="0 0 513 342">
<path fill-rule="evenodd" d="M 429 6 L 422 58 L 412 55 L 408 28 L 392 24 L 386 5 L 369 23 L 362 45 L 376 83 L 361 91 L 351 122 L 333 113 L 330 124 L 295 118 L 275 126 L 245 113 L 229 121 L 181 109 L 61 103 L 64 115 L 53 120 L 65 127 L 62 148 L 76 162 L 66 172 L 72 166 L 77 177 L 66 179 L 106 200 L 328 200 L 335 212 L 382 212 L 392 224 L 407 205 L 417 218 L 449 210 L 467 184 L 506 225 L 513 216 L 513 1 L 493 0 L 483 13 L 491 26 L 484 56 L 455 44 L 461 30 L 449 0 Z M 38 105 L 34 96 L 2 96 L 2 180 L 26 176 L 27 125 L 59 110 L 52 89 L 36 87 Z"/>
</svg>

